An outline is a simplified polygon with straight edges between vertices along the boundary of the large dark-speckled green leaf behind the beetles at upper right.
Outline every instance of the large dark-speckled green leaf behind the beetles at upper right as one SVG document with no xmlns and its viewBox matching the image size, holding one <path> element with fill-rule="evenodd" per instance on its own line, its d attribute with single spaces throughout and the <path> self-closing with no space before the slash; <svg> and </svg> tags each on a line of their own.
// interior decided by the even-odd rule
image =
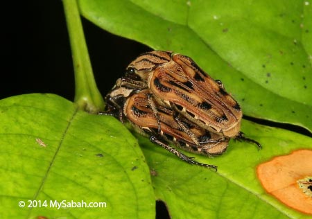
<svg viewBox="0 0 312 219">
<path fill-rule="evenodd" d="M 312 132 L 309 1 L 80 0 L 83 16 L 153 49 L 193 58 L 243 112 Z"/>
</svg>

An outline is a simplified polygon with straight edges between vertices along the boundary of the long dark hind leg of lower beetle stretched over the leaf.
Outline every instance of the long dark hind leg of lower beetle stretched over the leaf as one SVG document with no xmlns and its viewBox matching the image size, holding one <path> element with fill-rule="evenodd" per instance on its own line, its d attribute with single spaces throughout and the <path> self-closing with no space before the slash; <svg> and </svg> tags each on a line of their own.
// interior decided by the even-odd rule
<svg viewBox="0 0 312 219">
<path fill-rule="evenodd" d="M 211 165 L 211 164 L 202 164 L 198 161 L 194 161 L 192 159 L 192 157 L 187 157 L 187 155 L 182 154 L 182 152 L 176 150 L 175 148 L 166 145 L 165 143 L 163 143 L 162 141 L 160 141 L 159 139 L 157 139 L 157 137 L 155 136 L 151 136 L 150 137 L 150 141 L 153 143 L 156 143 L 159 146 L 162 146 L 162 148 L 168 150 L 169 152 L 173 153 L 173 155 L 176 155 L 177 157 L 179 157 L 180 159 L 182 159 L 183 161 L 186 161 L 189 164 L 195 164 L 198 166 L 205 166 L 207 168 L 214 168 L 214 170 L 217 170 L 217 166 Z"/>
</svg>

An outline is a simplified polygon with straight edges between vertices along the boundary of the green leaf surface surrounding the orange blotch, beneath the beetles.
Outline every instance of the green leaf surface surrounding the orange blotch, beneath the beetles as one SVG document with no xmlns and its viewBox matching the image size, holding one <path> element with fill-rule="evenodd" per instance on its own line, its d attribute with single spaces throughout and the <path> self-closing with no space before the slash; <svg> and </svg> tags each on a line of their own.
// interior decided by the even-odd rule
<svg viewBox="0 0 312 219">
<path fill-rule="evenodd" d="M 244 142 L 229 142 L 227 152 L 214 159 L 190 157 L 218 166 L 218 172 L 191 166 L 164 149 L 139 137 L 159 200 L 173 218 L 310 218 L 289 209 L 268 195 L 257 179 L 255 167 L 273 156 L 297 148 L 312 150 L 312 139 L 301 134 L 243 122 L 248 136 L 258 136 L 262 150 Z"/>
</svg>

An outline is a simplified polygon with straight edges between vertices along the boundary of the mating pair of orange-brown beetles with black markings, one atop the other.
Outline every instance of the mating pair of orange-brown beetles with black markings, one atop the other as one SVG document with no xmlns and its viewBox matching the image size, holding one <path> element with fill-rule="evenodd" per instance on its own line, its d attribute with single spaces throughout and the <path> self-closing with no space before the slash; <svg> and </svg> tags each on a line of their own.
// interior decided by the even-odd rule
<svg viewBox="0 0 312 219">
<path fill-rule="evenodd" d="M 184 161 L 201 164 L 166 142 L 203 155 L 222 154 L 229 139 L 256 143 L 243 136 L 241 107 L 220 82 L 191 58 L 170 51 L 152 51 L 131 62 L 126 75 L 106 96 L 106 114 L 127 119 L 150 141 Z"/>
</svg>

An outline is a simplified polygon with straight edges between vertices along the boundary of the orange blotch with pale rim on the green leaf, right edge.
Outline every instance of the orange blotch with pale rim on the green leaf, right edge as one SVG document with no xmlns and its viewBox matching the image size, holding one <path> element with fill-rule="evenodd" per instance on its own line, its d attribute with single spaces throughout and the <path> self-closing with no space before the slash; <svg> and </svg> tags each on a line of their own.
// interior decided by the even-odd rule
<svg viewBox="0 0 312 219">
<path fill-rule="evenodd" d="M 312 197 L 300 189 L 298 181 L 312 177 L 312 150 L 296 150 L 275 157 L 257 167 L 264 189 L 288 207 L 312 215 Z"/>
</svg>

